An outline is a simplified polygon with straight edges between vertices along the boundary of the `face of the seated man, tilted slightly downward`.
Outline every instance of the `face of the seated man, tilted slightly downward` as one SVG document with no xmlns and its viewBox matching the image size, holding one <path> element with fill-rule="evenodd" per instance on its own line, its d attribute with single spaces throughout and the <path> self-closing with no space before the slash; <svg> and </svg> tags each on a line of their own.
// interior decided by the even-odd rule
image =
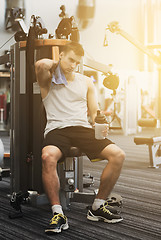
<svg viewBox="0 0 161 240">
<path fill-rule="evenodd" d="M 74 51 L 60 54 L 60 65 L 65 74 L 70 74 L 75 71 L 77 65 L 80 63 L 82 57 L 76 55 Z"/>
</svg>

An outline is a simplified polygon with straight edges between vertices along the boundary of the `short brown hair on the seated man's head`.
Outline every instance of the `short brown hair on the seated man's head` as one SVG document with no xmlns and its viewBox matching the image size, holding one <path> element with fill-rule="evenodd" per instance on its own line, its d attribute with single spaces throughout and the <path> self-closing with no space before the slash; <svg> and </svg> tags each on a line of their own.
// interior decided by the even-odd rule
<svg viewBox="0 0 161 240">
<path fill-rule="evenodd" d="M 69 51 L 73 51 L 76 55 L 83 57 L 84 49 L 80 43 L 70 42 L 63 46 L 62 52 L 67 53 Z"/>
</svg>

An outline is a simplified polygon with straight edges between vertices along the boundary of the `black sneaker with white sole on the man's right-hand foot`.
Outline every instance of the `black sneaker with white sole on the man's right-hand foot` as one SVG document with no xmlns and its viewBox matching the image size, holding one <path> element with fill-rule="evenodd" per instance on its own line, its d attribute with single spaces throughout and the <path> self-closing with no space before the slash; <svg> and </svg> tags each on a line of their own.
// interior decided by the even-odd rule
<svg viewBox="0 0 161 240">
<path fill-rule="evenodd" d="M 107 223 L 117 223 L 123 220 L 119 214 L 112 213 L 106 204 L 101 205 L 97 210 L 92 208 L 87 212 L 87 219 L 91 221 L 103 221 Z"/>
</svg>

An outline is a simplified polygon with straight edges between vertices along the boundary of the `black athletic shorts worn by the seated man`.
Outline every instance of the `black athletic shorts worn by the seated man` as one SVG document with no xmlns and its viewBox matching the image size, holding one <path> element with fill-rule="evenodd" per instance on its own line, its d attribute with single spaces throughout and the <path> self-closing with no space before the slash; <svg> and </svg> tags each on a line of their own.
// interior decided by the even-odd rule
<svg viewBox="0 0 161 240">
<path fill-rule="evenodd" d="M 101 151 L 109 144 L 109 139 L 95 139 L 94 129 L 81 126 L 65 127 L 50 131 L 43 142 L 43 147 L 54 145 L 63 153 L 63 158 L 69 156 L 70 147 L 78 147 L 90 160 L 98 158 Z"/>
</svg>

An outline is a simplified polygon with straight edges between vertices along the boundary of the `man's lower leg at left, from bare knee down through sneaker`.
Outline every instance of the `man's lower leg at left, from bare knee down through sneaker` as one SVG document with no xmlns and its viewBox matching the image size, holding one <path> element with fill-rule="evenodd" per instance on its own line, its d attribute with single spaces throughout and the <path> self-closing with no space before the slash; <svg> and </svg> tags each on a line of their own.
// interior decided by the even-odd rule
<svg viewBox="0 0 161 240">
<path fill-rule="evenodd" d="M 60 233 L 62 229 L 69 228 L 59 200 L 60 183 L 57 174 L 57 162 L 61 156 L 61 151 L 55 146 L 46 146 L 42 150 L 42 180 L 53 212 L 53 218 L 45 230 L 49 234 Z"/>
</svg>

